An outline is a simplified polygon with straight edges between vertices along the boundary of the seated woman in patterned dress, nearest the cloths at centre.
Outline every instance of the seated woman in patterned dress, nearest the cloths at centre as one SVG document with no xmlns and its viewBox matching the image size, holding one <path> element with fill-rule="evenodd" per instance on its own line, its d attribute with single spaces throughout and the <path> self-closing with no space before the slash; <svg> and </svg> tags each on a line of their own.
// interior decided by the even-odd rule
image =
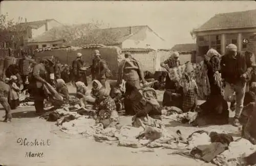
<svg viewBox="0 0 256 166">
<path fill-rule="evenodd" d="M 94 91 L 95 92 L 95 91 Z M 97 110 L 97 120 L 103 127 L 114 127 L 119 122 L 115 101 L 110 97 L 109 90 L 105 88 L 97 89 L 95 108 Z"/>
</svg>

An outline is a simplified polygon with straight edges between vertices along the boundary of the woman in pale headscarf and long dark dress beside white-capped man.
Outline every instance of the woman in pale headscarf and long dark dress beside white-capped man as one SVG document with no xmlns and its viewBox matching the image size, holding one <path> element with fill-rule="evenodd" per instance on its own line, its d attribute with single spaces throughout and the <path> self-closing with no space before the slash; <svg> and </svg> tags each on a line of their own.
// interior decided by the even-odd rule
<svg viewBox="0 0 256 166">
<path fill-rule="evenodd" d="M 199 122 L 199 126 L 208 124 L 222 125 L 228 123 L 228 105 L 223 98 L 223 85 L 219 73 L 221 61 L 220 57 L 221 55 L 214 49 L 210 49 L 205 55 L 204 62 L 208 69 L 207 75 L 210 83 L 211 93 L 206 102 L 200 105 L 202 111 L 196 119 L 196 121 Z"/>
</svg>

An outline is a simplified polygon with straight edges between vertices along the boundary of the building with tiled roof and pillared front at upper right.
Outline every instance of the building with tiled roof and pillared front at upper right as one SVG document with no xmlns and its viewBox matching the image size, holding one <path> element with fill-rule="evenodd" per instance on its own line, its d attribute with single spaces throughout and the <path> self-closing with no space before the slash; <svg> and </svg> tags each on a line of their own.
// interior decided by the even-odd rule
<svg viewBox="0 0 256 166">
<path fill-rule="evenodd" d="M 198 55 L 204 55 L 210 48 L 224 54 L 229 43 L 245 51 L 249 42 L 255 42 L 256 10 L 217 14 L 193 33 L 197 37 Z"/>
</svg>

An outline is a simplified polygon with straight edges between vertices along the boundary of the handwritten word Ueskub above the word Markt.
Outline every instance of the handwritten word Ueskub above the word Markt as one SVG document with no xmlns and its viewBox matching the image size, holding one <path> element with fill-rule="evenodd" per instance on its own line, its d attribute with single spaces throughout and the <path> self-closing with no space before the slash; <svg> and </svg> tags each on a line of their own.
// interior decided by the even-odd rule
<svg viewBox="0 0 256 166">
<path fill-rule="evenodd" d="M 50 139 L 28 140 L 27 138 L 18 138 L 17 143 L 20 146 L 25 146 L 25 147 L 49 147 L 51 145 Z"/>
</svg>

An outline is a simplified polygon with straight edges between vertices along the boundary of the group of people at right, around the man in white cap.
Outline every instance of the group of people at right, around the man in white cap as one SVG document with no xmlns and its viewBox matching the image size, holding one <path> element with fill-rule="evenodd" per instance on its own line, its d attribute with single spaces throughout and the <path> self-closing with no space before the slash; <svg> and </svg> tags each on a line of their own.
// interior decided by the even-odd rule
<svg viewBox="0 0 256 166">
<path fill-rule="evenodd" d="M 223 56 L 214 49 L 208 50 L 204 55 L 204 63 L 207 66 L 210 84 L 210 95 L 206 102 L 197 107 L 198 87 L 193 77 L 189 75 L 191 67 L 187 64 L 183 85 L 180 81 L 170 80 L 168 76 L 166 77 L 163 106 L 176 106 L 184 112 L 197 109 L 199 111 L 198 118 L 211 120 L 211 123 L 227 124 L 229 118 L 227 102 L 231 102 L 231 110 L 234 110 L 234 105 L 236 106 L 233 125 L 240 126 L 244 105 L 254 102 L 254 98 L 246 97 L 254 95 L 256 81 L 254 54 L 250 51 L 241 53 L 237 50 L 236 45 L 229 44 L 226 47 L 226 54 Z M 161 66 L 167 69 L 179 65 L 177 52 L 161 63 Z M 251 100 L 245 103 L 248 98 Z"/>
</svg>

